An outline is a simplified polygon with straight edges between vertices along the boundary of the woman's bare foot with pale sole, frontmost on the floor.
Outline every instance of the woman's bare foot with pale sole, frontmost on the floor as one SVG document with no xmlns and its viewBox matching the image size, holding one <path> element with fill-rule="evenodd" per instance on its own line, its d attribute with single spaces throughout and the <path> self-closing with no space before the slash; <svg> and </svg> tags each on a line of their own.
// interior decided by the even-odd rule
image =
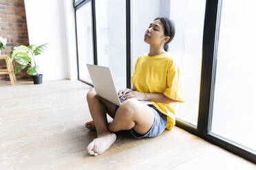
<svg viewBox="0 0 256 170">
<path fill-rule="evenodd" d="M 94 138 L 94 140 L 89 143 L 87 147 L 87 151 L 90 155 L 98 156 L 102 154 L 105 150 L 109 149 L 109 147 L 116 141 L 116 134 L 107 132 L 98 136 L 98 138 Z"/>
</svg>

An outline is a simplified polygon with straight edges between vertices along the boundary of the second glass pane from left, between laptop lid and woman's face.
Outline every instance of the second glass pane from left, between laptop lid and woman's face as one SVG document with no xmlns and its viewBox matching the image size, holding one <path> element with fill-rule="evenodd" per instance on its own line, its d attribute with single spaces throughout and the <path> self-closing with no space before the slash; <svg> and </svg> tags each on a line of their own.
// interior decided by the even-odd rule
<svg viewBox="0 0 256 170">
<path fill-rule="evenodd" d="M 109 66 L 116 90 L 126 88 L 125 0 L 97 0 L 98 65 Z"/>
</svg>

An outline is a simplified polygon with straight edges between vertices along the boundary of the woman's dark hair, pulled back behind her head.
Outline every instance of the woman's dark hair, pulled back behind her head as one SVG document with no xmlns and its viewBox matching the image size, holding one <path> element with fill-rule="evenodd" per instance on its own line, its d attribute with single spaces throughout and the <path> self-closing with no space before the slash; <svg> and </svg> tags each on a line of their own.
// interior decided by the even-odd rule
<svg viewBox="0 0 256 170">
<path fill-rule="evenodd" d="M 154 21 L 156 21 L 158 19 L 164 25 L 164 36 L 170 37 L 170 39 L 167 42 L 165 42 L 165 44 L 164 44 L 164 50 L 168 51 L 168 49 L 169 49 L 168 44 L 169 44 L 169 42 L 171 42 L 171 40 L 173 39 L 173 37 L 175 35 L 175 25 L 174 25 L 173 21 L 171 21 L 170 19 L 167 19 L 166 17 L 158 17 Z"/>
</svg>

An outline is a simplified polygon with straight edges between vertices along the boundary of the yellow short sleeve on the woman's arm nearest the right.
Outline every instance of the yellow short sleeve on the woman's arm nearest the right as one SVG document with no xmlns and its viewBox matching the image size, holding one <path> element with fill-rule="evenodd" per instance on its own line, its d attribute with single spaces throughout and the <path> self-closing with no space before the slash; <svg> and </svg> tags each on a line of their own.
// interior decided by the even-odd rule
<svg viewBox="0 0 256 170">
<path fill-rule="evenodd" d="M 164 95 L 170 99 L 184 103 L 184 87 L 182 83 L 182 74 L 180 66 L 173 61 L 167 71 L 167 88 L 164 90 Z"/>
</svg>

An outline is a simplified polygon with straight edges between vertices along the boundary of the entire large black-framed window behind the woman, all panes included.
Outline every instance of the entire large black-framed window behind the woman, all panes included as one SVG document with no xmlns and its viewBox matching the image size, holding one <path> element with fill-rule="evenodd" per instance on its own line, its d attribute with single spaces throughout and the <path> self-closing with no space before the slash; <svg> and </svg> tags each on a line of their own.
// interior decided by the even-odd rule
<svg viewBox="0 0 256 170">
<path fill-rule="evenodd" d="M 90 84 L 87 63 L 109 66 L 117 90 L 130 86 L 138 56 L 149 52 L 149 24 L 173 20 L 169 52 L 180 60 L 186 95 L 176 125 L 256 162 L 255 2 L 75 0 L 74 8 L 78 79 Z"/>
</svg>

